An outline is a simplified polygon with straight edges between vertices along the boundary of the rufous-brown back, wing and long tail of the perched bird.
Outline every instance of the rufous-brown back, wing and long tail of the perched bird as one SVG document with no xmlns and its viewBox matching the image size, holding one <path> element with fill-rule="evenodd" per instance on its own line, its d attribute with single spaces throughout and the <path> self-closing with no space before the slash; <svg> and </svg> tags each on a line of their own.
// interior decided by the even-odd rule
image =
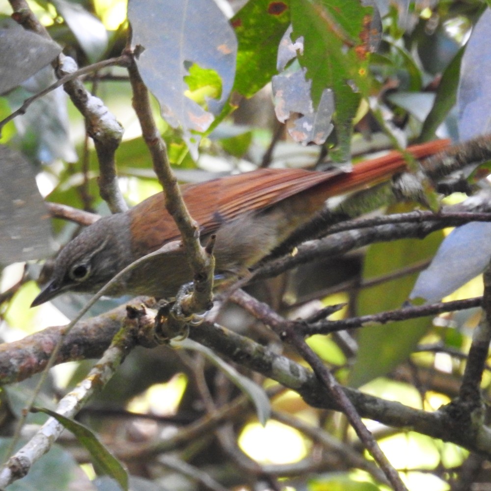
<svg viewBox="0 0 491 491">
<path fill-rule="evenodd" d="M 410 147 L 416 158 L 436 153 L 448 146 L 448 140 L 435 140 Z M 257 169 L 243 174 L 214 179 L 200 184 L 184 185 L 183 197 L 200 226 L 202 235 L 247 213 L 264 210 L 290 196 L 318 186 L 319 196 L 353 191 L 404 170 L 406 161 L 400 152 L 356 164 L 353 172 L 329 170 L 312 172 L 304 169 Z M 325 183 L 325 184 L 322 184 Z M 310 193 L 311 194 L 311 193 Z M 306 199 L 309 197 L 305 195 Z M 166 242 L 178 240 L 179 230 L 165 209 L 163 193 L 150 196 L 130 210 L 133 250 L 141 255 Z"/>
</svg>

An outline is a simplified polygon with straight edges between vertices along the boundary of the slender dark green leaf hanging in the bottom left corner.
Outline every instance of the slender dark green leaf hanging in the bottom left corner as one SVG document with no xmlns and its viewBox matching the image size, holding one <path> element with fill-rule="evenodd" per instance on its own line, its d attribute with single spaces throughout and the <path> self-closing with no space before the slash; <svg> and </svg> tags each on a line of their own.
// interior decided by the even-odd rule
<svg viewBox="0 0 491 491">
<path fill-rule="evenodd" d="M 128 490 L 128 473 L 121 463 L 109 452 L 109 450 L 97 439 L 86 426 L 58 414 L 46 408 L 33 408 L 34 412 L 41 411 L 54 417 L 67 430 L 71 431 L 77 440 L 87 449 L 93 459 L 93 463 L 99 472 L 114 478 L 123 490 Z"/>
</svg>

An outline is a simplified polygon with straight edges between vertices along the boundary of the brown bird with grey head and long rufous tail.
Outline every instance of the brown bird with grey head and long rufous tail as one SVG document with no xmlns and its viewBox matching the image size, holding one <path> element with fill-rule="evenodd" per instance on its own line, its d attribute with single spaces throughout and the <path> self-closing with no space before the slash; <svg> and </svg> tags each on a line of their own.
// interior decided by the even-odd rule
<svg viewBox="0 0 491 491">
<path fill-rule="evenodd" d="M 422 158 L 446 146 L 447 140 L 436 140 L 408 150 Z M 356 164 L 351 172 L 258 169 L 184 185 L 182 193 L 203 243 L 216 234 L 216 272 L 240 273 L 284 242 L 327 198 L 381 182 L 405 168 L 402 155 L 390 152 Z M 101 218 L 59 252 L 50 281 L 31 306 L 67 291 L 95 293 L 136 259 L 179 239 L 162 192 L 125 213 Z M 145 261 L 107 294 L 165 298 L 191 279 L 184 249 L 174 248 Z"/>
</svg>

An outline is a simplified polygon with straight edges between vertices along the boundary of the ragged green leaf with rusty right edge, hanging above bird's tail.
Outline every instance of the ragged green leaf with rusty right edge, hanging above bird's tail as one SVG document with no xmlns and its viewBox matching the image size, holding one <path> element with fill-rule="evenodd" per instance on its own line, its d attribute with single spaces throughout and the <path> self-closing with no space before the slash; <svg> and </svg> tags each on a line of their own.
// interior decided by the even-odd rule
<svg viewBox="0 0 491 491">
<path fill-rule="evenodd" d="M 336 136 L 335 160 L 348 160 L 361 96 L 368 96 L 367 44 L 362 41 L 371 7 L 358 0 L 292 0 L 292 40 L 303 37 L 299 62 L 312 80 L 311 96 L 317 107 L 324 89 L 334 91 Z"/>
</svg>

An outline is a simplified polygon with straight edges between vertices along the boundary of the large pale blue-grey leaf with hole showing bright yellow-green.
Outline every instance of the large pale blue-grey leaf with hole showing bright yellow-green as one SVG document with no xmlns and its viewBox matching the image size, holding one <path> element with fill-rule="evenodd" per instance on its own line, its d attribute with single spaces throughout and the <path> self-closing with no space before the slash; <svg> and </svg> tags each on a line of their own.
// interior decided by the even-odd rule
<svg viewBox="0 0 491 491">
<path fill-rule="evenodd" d="M 232 90 L 235 33 L 213 0 L 132 0 L 128 18 L 133 45 L 143 49 L 137 60 L 141 77 L 164 119 L 182 126 L 196 157 L 199 133 L 210 127 Z"/>
</svg>

